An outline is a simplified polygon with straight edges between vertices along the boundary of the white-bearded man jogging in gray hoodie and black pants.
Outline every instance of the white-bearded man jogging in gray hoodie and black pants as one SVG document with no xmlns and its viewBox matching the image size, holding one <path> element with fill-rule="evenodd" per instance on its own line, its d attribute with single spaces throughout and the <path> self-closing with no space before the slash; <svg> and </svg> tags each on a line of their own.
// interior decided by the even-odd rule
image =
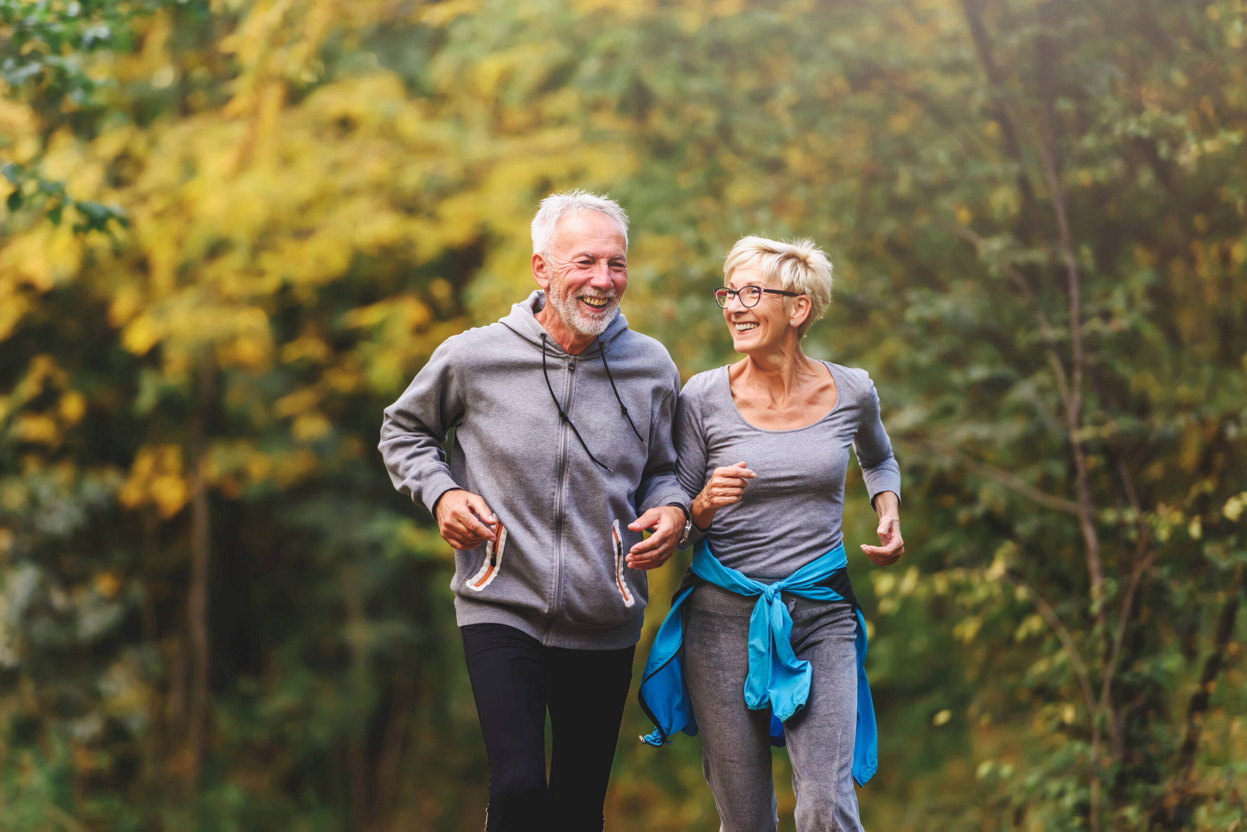
<svg viewBox="0 0 1247 832">
<path fill-rule="evenodd" d="M 680 374 L 620 314 L 627 216 L 615 201 L 544 200 L 532 277 L 541 289 L 510 314 L 433 353 L 387 408 L 380 450 L 456 549 L 485 828 L 597 832 L 648 596 L 640 570 L 690 528 L 671 440 Z"/>
</svg>

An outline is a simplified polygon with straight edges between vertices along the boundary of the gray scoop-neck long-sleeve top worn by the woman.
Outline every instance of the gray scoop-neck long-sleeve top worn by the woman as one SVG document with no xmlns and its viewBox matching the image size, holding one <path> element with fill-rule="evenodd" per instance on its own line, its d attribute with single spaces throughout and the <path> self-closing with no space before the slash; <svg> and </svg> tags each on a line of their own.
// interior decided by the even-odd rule
<svg viewBox="0 0 1247 832">
<path fill-rule="evenodd" d="M 827 363 L 835 407 L 793 430 L 756 428 L 732 400 L 727 367 L 698 373 L 680 394 L 676 454 L 691 496 L 716 468 L 744 463 L 757 473 L 741 500 L 721 508 L 705 538 L 726 566 L 749 578 L 787 578 L 840 543 L 849 445 L 870 500 L 900 496 L 900 468 L 879 419 L 879 395 L 863 369 Z M 688 543 L 702 535 L 693 528 Z"/>
</svg>

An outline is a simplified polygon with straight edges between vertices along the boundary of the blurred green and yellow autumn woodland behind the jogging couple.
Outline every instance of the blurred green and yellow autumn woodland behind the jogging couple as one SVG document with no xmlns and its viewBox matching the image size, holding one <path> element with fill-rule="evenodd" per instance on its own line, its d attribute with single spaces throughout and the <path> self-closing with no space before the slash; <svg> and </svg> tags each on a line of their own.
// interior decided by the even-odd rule
<svg viewBox="0 0 1247 832">
<path fill-rule="evenodd" d="M 1243 828 L 1245 16 L 0 0 L 0 827 L 480 828 L 450 551 L 378 428 L 586 187 L 686 378 L 738 236 L 835 263 L 808 352 L 905 476 L 907 558 L 850 555 L 867 828 Z M 647 730 L 607 828 L 717 828 Z"/>
</svg>

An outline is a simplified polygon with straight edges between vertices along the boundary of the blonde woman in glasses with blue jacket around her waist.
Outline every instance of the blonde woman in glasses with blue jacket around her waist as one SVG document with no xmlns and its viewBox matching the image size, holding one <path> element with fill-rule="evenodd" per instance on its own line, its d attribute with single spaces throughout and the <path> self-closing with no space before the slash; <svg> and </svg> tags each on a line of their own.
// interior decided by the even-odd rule
<svg viewBox="0 0 1247 832">
<path fill-rule="evenodd" d="M 722 832 L 776 830 L 771 745 L 784 741 L 797 830 L 860 830 L 853 781 L 877 763 L 840 535 L 849 445 L 879 515 L 880 545 L 862 550 L 879 565 L 904 553 L 900 472 L 865 370 L 801 349 L 831 301 L 823 252 L 746 237 L 723 271 L 715 299 L 744 359 L 693 375 L 680 395 L 696 549 L 642 677 L 657 726 L 642 740 L 700 728 Z"/>
</svg>

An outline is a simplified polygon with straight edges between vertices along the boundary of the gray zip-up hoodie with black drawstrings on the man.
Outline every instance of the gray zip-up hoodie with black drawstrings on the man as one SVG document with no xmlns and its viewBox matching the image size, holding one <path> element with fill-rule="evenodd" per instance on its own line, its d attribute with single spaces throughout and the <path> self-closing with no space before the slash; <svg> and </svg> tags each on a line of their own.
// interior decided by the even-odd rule
<svg viewBox="0 0 1247 832">
<path fill-rule="evenodd" d="M 671 440 L 680 373 L 622 313 L 570 356 L 534 318 L 542 306 L 534 292 L 498 323 L 448 338 L 385 409 L 379 447 L 394 488 L 430 511 L 465 488 L 498 515 L 496 544 L 455 553 L 460 626 L 506 624 L 556 647 L 627 647 L 648 601 L 645 573 L 624 563 L 641 540 L 627 525 L 658 505 L 688 506 Z"/>
</svg>

